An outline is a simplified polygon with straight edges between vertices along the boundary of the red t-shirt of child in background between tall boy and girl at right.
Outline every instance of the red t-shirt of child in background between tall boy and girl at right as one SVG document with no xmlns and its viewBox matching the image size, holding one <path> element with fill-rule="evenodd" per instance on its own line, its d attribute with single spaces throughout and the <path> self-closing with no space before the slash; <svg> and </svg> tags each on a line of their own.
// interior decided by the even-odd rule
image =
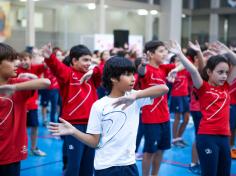
<svg viewBox="0 0 236 176">
<path fill-rule="evenodd" d="M 186 69 L 177 73 L 172 85 L 171 96 L 188 96 L 188 74 Z"/>
</svg>

